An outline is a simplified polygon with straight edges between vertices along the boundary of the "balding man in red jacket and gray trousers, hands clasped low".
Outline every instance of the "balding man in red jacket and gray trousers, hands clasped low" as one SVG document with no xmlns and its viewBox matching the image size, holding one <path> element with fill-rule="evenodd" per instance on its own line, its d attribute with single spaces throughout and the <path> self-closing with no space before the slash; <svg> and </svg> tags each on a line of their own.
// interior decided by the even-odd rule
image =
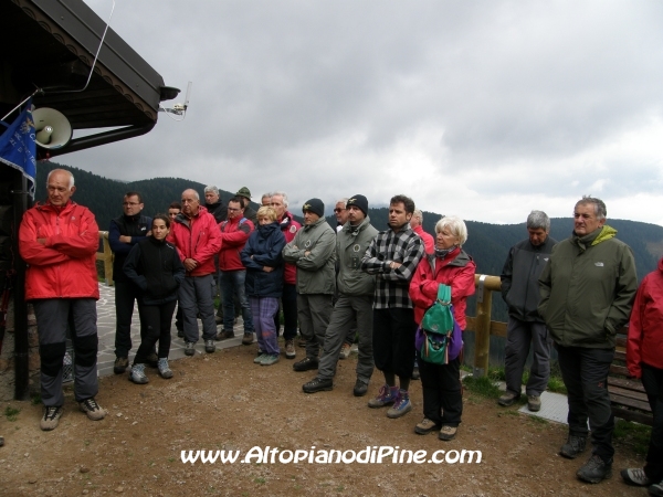
<svg viewBox="0 0 663 497">
<path fill-rule="evenodd" d="M 214 216 L 200 205 L 200 195 L 196 190 L 185 190 L 181 203 L 182 211 L 175 218 L 167 240 L 177 246 L 187 269 L 178 294 L 185 321 L 185 353 L 196 353 L 198 315 L 202 320 L 204 351 L 212 353 L 217 350 L 214 254 L 221 248 L 221 232 Z"/>
</svg>

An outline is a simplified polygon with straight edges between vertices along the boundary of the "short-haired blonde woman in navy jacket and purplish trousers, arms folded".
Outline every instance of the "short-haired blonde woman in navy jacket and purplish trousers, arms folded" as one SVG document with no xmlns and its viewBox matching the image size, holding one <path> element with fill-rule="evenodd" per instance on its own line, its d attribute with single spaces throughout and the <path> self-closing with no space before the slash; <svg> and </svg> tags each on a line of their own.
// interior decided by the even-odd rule
<svg viewBox="0 0 663 497">
<path fill-rule="evenodd" d="M 285 236 L 281 232 L 276 212 L 271 207 L 257 210 L 257 226 L 251 233 L 241 253 L 246 267 L 246 296 L 251 304 L 257 347 L 263 353 L 253 362 L 271 366 L 278 362 L 278 337 L 274 316 L 283 292 L 283 255 Z"/>
</svg>

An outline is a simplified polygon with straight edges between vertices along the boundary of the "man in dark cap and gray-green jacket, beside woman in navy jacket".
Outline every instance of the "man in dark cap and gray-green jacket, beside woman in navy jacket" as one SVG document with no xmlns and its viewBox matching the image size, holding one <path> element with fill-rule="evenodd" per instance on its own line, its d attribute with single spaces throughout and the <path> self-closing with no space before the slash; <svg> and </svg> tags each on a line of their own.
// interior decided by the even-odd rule
<svg viewBox="0 0 663 497">
<path fill-rule="evenodd" d="M 283 258 L 297 266 L 297 316 L 306 339 L 306 357 L 293 364 L 295 371 L 318 367 L 336 288 L 336 232 L 325 220 L 325 204 L 320 199 L 311 199 L 302 211 L 304 228 L 283 248 Z"/>
</svg>

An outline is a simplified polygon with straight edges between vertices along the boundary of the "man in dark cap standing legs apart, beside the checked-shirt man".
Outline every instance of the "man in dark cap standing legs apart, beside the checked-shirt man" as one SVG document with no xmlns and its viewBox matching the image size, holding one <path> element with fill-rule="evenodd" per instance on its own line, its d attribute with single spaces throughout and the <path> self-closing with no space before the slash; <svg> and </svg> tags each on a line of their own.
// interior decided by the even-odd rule
<svg viewBox="0 0 663 497">
<path fill-rule="evenodd" d="M 361 257 L 378 234 L 367 215 L 368 200 L 354 195 L 347 201 L 348 222 L 337 234 L 338 299 L 327 327 L 317 377 L 302 390 L 315 393 L 333 389 L 336 363 L 348 330 L 359 331 L 359 357 L 355 396 L 366 395 L 375 363 L 372 358 L 372 299 L 376 277 L 361 271 Z M 356 325 L 356 326 L 355 326 Z"/>
</svg>

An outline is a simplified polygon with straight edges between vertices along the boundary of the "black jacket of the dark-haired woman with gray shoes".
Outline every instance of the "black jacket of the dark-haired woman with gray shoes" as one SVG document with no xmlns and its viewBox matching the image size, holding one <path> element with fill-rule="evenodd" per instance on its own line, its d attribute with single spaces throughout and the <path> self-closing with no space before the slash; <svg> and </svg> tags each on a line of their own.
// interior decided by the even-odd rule
<svg viewBox="0 0 663 497">
<path fill-rule="evenodd" d="M 175 300 L 186 273 L 175 245 L 154 236 L 131 248 L 124 272 L 143 290 L 143 302 L 152 306 Z"/>
</svg>

